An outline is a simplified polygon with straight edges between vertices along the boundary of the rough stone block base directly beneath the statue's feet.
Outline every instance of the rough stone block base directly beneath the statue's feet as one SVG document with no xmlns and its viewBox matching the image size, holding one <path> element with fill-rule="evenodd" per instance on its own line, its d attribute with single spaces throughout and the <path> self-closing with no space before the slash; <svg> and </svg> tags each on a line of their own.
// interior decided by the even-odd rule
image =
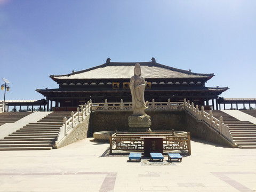
<svg viewBox="0 0 256 192">
<path fill-rule="evenodd" d="M 131 115 L 128 117 L 129 132 L 149 132 L 151 120 L 149 115 L 135 116 Z"/>
</svg>

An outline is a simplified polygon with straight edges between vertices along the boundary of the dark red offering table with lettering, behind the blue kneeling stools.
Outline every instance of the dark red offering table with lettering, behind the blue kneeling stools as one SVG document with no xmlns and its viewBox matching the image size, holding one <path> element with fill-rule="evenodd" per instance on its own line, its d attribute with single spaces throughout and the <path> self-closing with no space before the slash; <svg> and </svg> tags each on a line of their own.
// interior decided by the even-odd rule
<svg viewBox="0 0 256 192">
<path fill-rule="evenodd" d="M 165 137 L 141 137 L 144 141 L 144 156 L 150 157 L 150 153 L 164 153 L 163 139 Z"/>
</svg>

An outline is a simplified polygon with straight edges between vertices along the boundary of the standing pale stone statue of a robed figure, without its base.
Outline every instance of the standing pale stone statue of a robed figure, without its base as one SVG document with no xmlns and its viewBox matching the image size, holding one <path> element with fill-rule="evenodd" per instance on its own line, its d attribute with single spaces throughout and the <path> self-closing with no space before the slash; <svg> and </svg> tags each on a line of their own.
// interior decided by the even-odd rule
<svg viewBox="0 0 256 192">
<path fill-rule="evenodd" d="M 134 116 L 146 115 L 144 111 L 147 108 L 144 99 L 146 83 L 145 78 L 141 76 L 140 64 L 136 63 L 134 67 L 134 76 L 131 77 L 130 81 L 132 109 Z"/>
</svg>

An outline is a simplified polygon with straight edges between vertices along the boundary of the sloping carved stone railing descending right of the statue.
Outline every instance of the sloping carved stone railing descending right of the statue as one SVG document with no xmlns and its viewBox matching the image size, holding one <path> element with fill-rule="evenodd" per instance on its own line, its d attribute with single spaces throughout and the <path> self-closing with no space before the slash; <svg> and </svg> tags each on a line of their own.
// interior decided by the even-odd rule
<svg viewBox="0 0 256 192">
<path fill-rule="evenodd" d="M 227 140 L 229 140 L 231 143 L 235 144 L 235 141 L 233 140 L 233 137 L 229 131 L 229 127 L 223 123 L 222 116 L 220 116 L 220 119 L 217 119 L 213 117 L 212 110 L 210 110 L 209 113 L 206 113 L 203 106 L 201 107 L 201 110 L 199 110 L 197 105 L 196 107 L 194 107 L 193 102 L 190 105 L 189 100 L 187 102 L 186 99 L 184 99 L 184 106 L 185 110 L 193 115 L 197 120 L 203 121 L 204 123 L 212 127 L 212 129 L 225 137 Z"/>
</svg>

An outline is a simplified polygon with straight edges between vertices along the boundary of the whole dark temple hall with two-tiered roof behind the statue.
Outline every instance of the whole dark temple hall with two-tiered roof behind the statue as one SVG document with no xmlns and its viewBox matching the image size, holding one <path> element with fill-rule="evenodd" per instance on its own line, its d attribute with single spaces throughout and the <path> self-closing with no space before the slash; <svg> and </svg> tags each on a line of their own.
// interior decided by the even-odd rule
<svg viewBox="0 0 256 192">
<path fill-rule="evenodd" d="M 37 89 L 47 100 L 47 109 L 55 107 L 71 109 L 92 102 L 131 102 L 130 78 L 134 75 L 135 63 L 140 63 L 142 76 L 147 81 L 145 101 L 173 102 L 183 101 L 184 98 L 195 105 L 209 106 L 209 100 L 215 101 L 218 109 L 219 95 L 228 87 L 206 87 L 214 74 L 193 73 L 157 63 L 154 58 L 150 62 L 110 62 L 90 69 L 72 71 L 66 75 L 51 75 L 50 78 L 59 84 L 57 89 Z M 63 109 L 64 110 L 64 109 Z"/>
</svg>

